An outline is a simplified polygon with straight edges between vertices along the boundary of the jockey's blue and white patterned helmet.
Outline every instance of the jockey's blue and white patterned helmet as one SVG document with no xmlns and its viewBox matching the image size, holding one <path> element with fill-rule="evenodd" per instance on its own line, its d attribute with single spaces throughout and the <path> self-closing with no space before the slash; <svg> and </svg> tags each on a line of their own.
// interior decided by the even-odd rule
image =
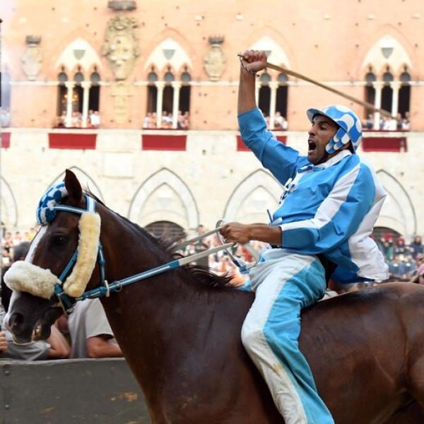
<svg viewBox="0 0 424 424">
<path fill-rule="evenodd" d="M 330 105 L 322 110 L 308 109 L 306 113 L 310 122 L 312 122 L 315 115 L 320 114 L 336 122 L 339 126 L 334 137 L 325 146 L 328 153 L 331 154 L 338 151 L 349 141 L 352 143 L 353 150 L 356 151 L 362 139 L 362 124 L 353 110 L 342 105 Z"/>
</svg>

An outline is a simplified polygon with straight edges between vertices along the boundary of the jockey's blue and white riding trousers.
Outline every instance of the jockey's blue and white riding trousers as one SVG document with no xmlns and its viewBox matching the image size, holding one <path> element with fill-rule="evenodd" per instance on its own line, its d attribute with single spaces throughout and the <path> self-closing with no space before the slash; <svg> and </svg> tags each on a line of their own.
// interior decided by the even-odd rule
<svg viewBox="0 0 424 424">
<path fill-rule="evenodd" d="M 322 264 L 316 257 L 282 250 L 280 257 L 257 265 L 249 278 L 256 298 L 243 324 L 242 341 L 278 411 L 286 424 L 334 424 L 298 348 L 300 311 L 324 295 Z"/>
</svg>

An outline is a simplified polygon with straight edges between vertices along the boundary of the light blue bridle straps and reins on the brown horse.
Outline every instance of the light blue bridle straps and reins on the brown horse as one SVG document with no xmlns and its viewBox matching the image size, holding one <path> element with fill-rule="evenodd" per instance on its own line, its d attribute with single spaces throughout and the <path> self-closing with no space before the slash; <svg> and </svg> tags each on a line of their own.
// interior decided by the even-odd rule
<svg viewBox="0 0 424 424">
<path fill-rule="evenodd" d="M 76 213 L 78 215 L 82 215 L 85 212 L 94 213 L 95 200 L 86 194 L 85 196 L 86 196 L 85 209 L 76 208 L 73 206 L 60 205 L 60 204 L 54 206 L 54 209 L 56 209 L 57 211 Z M 84 293 L 77 298 L 72 298 L 71 296 L 67 295 L 64 292 L 63 285 L 64 285 L 64 281 L 66 280 L 66 277 L 69 275 L 69 273 L 73 269 L 73 266 L 76 263 L 76 259 L 78 257 L 78 248 L 77 248 L 75 252 L 73 253 L 71 259 L 69 260 L 68 264 L 65 266 L 64 271 L 62 271 L 59 276 L 60 283 L 56 283 L 54 285 L 54 294 L 57 296 L 59 303 L 62 309 L 64 310 L 64 312 L 69 312 L 73 308 L 76 302 L 79 302 L 81 300 L 86 300 L 86 299 L 109 297 L 110 293 L 119 292 L 126 285 L 136 283 L 138 281 L 146 280 L 146 278 L 157 276 L 158 274 L 164 273 L 166 271 L 170 271 L 171 269 L 179 268 L 179 266 L 183 266 L 185 264 L 189 264 L 192 261 L 196 261 L 198 259 L 208 257 L 209 255 L 219 252 L 220 250 L 225 250 L 227 254 L 230 256 L 230 258 L 232 259 L 232 261 L 235 263 L 235 265 L 240 269 L 240 272 L 245 273 L 250 268 L 252 268 L 252 266 L 257 264 L 257 262 L 259 261 L 259 255 L 257 254 L 257 252 L 254 251 L 254 249 L 250 245 L 243 245 L 243 247 L 245 247 L 245 249 L 247 249 L 247 251 L 250 254 L 252 254 L 255 260 L 246 264 L 244 261 L 241 261 L 240 259 L 236 259 L 235 257 L 233 257 L 228 249 L 230 249 L 230 247 L 233 247 L 234 243 L 225 243 L 222 236 L 220 235 L 220 229 L 222 228 L 223 223 L 224 223 L 223 220 L 219 220 L 217 223 L 217 227 L 214 230 L 204 232 L 203 234 L 199 236 L 192 237 L 191 239 L 186 240 L 185 242 L 182 242 L 179 245 L 176 245 L 175 247 L 172 248 L 172 252 L 176 252 L 177 250 L 182 249 L 183 247 L 186 247 L 190 243 L 201 240 L 204 237 L 208 237 L 209 235 L 212 235 L 212 234 L 218 235 L 218 238 L 220 242 L 222 243 L 220 246 L 207 249 L 204 252 L 199 252 L 196 254 L 189 255 L 188 257 L 183 257 L 181 259 L 176 259 L 174 261 L 167 262 L 166 264 L 156 266 L 155 268 L 148 269 L 147 271 L 143 271 L 141 273 L 136 273 L 132 276 L 122 278 L 121 280 L 113 281 L 112 283 L 108 283 L 106 279 L 106 269 L 105 269 L 106 261 L 105 261 L 105 256 L 103 254 L 102 244 L 99 240 L 97 261 L 100 267 L 100 285 L 97 288 L 84 291 Z"/>
</svg>

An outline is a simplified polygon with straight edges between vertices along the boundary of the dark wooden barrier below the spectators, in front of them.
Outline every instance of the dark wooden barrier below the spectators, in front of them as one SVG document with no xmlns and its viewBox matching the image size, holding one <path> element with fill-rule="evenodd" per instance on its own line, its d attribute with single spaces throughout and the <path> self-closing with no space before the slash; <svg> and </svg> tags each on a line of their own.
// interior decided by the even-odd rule
<svg viewBox="0 0 424 424">
<path fill-rule="evenodd" d="M 123 358 L 0 360 L 0 384 L 0 423 L 151 423 Z"/>
</svg>

